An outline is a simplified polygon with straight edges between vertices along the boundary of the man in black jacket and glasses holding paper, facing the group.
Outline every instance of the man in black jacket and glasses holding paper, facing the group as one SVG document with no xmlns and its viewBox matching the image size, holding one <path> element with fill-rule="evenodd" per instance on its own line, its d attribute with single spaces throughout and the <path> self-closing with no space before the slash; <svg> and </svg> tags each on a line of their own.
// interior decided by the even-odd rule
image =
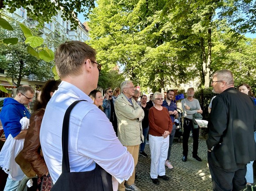
<svg viewBox="0 0 256 191">
<path fill-rule="evenodd" d="M 206 141 L 213 190 L 240 191 L 246 185 L 246 164 L 256 159 L 256 107 L 234 88 L 228 70 L 215 72 L 211 85 L 219 93 L 212 101 Z"/>
</svg>

